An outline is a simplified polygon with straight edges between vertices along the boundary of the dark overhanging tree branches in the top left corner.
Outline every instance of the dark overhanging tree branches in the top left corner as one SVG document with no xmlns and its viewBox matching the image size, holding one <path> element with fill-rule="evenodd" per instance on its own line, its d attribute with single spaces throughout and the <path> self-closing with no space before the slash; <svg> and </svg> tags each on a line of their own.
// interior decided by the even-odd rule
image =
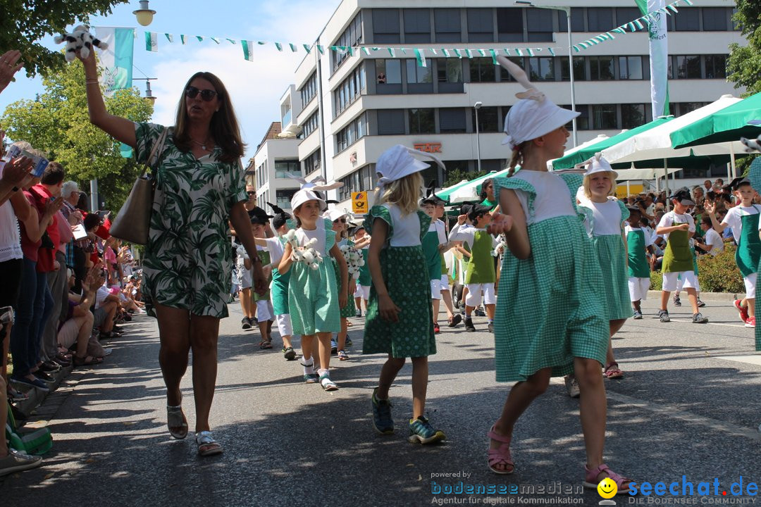
<svg viewBox="0 0 761 507">
<path fill-rule="evenodd" d="M 71 30 L 72 25 L 88 23 L 89 14 L 111 14 L 113 5 L 128 0 L 0 0 L 0 49 L 18 49 L 27 75 L 49 75 L 63 68 L 57 52 L 42 46 L 44 36 Z"/>
</svg>

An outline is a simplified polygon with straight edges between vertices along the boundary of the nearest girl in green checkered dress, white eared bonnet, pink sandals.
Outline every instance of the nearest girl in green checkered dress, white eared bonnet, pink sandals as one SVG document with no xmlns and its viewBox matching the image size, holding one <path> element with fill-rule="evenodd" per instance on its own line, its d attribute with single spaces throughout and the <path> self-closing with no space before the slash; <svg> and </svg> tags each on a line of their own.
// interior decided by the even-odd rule
<svg viewBox="0 0 761 507">
<path fill-rule="evenodd" d="M 600 366 L 610 329 L 600 306 L 597 259 L 576 209 L 581 176 L 547 171 L 547 162 L 565 151 L 564 125 L 579 113 L 552 103 L 505 57 L 498 61 L 527 92 L 518 94 L 521 100 L 505 118 L 503 144 L 513 151 L 510 177 L 495 178 L 503 214 L 492 218 L 491 232 L 505 233 L 508 245 L 495 322 L 496 373 L 498 382 L 517 384 L 488 433 L 489 468 L 496 474 L 514 471 L 510 442 L 518 418 L 546 390 L 550 377 L 575 372 L 587 455 L 584 486 L 597 488 L 607 477 L 619 494 L 629 493 L 631 481 L 603 463 L 607 403 Z M 514 173 L 518 163 L 521 170 Z M 537 309 L 548 311 L 537 314 Z"/>
</svg>

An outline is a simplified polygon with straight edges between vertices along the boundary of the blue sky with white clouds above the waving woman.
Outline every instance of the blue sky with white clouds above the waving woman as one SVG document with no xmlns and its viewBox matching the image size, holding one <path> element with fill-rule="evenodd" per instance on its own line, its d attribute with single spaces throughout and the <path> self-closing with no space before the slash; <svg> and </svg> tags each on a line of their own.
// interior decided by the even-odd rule
<svg viewBox="0 0 761 507">
<path fill-rule="evenodd" d="M 340 0 L 152 0 L 150 7 L 156 11 L 153 22 L 141 27 L 132 14 L 139 8 L 139 2 L 131 0 L 129 4 L 117 5 L 108 16 L 92 16 L 90 24 L 137 30 L 132 77 L 158 78 L 151 81 L 153 95 L 157 97 L 153 122 L 174 123 L 183 85 L 196 71 L 210 71 L 221 78 L 231 95 L 244 142 L 248 144 L 245 163 L 253 157 L 269 125 L 280 121 L 280 97 L 288 85 L 293 84 L 296 68 L 306 55 L 301 44 L 314 42 L 339 4 Z M 97 28 L 93 31 L 97 35 Z M 144 31 L 159 34 L 158 52 L 145 50 Z M 164 33 L 174 34 L 174 44 L 167 41 Z M 179 42 L 180 33 L 206 38 L 199 43 L 192 37 L 183 46 Z M 217 45 L 209 36 L 220 38 L 221 43 Z M 279 52 L 274 44 L 256 46 L 255 61 L 248 62 L 240 43 L 233 45 L 224 40 L 227 37 L 279 42 L 285 47 Z M 295 43 L 301 50 L 291 52 L 287 43 Z M 43 45 L 50 49 L 62 48 L 53 43 L 53 36 L 46 37 Z M 134 84 L 145 95 L 145 81 Z M 10 103 L 32 100 L 42 92 L 40 78 L 27 78 L 22 69 L 16 74 L 16 82 L 0 95 L 0 111 L 5 111 Z"/>
</svg>

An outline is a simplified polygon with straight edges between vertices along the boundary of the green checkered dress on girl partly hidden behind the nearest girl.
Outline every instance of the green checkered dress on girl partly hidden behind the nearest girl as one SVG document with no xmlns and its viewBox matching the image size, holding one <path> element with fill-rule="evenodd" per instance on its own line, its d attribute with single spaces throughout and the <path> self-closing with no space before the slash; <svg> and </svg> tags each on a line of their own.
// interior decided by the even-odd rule
<svg viewBox="0 0 761 507">
<path fill-rule="evenodd" d="M 629 218 L 629 210 L 621 201 L 616 200 L 616 202 L 621 210 L 620 222 L 622 223 Z M 590 239 L 600 266 L 599 276 L 603 281 L 603 297 L 600 303 L 603 306 L 603 315 L 609 321 L 629 318 L 634 313 L 632 303 L 629 301 L 629 272 L 626 269 L 628 254 L 623 244 L 623 237 L 620 234 L 595 236 L 592 210 L 583 206 L 579 206 L 579 209 L 586 215 L 586 220 L 590 224 Z"/>
</svg>

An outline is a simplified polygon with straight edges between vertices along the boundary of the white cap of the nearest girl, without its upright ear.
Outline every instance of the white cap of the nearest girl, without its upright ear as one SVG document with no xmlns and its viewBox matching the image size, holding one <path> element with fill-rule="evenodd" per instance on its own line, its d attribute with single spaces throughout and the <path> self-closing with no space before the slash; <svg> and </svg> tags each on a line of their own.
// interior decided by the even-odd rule
<svg viewBox="0 0 761 507">
<path fill-rule="evenodd" d="M 581 112 L 556 106 L 552 100 L 518 100 L 505 116 L 505 134 L 502 144 L 509 144 L 514 150 L 524 141 L 539 138 L 562 127 Z"/>
</svg>

